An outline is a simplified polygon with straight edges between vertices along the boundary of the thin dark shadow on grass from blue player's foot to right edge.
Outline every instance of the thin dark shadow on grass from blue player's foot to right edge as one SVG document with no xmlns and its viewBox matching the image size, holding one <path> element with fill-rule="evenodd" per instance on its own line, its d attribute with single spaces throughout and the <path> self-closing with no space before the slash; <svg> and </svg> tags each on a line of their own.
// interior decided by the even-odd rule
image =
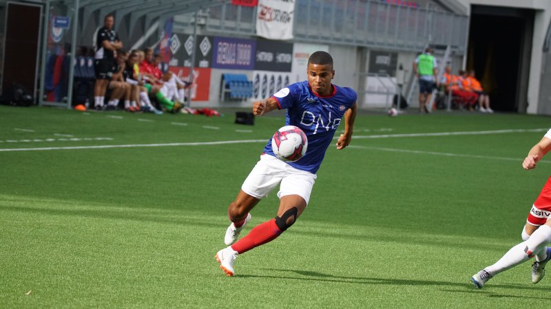
<svg viewBox="0 0 551 309">
<path fill-rule="evenodd" d="M 377 278 L 377 277 L 351 277 L 351 276 L 335 276 L 325 273 L 319 273 L 317 271 L 297 271 L 293 269 L 277 269 L 277 268 L 264 268 L 267 271 L 277 271 L 282 273 L 295 273 L 300 275 L 300 277 L 289 277 L 286 275 L 236 275 L 236 277 L 251 277 L 251 278 L 273 278 L 273 279 L 295 279 L 295 280 L 311 280 L 311 281 L 320 281 L 320 282 L 339 282 L 339 283 L 350 283 L 350 284 L 388 284 L 394 286 L 453 286 L 465 288 L 465 290 L 457 290 L 463 293 L 484 293 L 488 294 L 488 297 L 519 297 L 524 298 L 525 296 L 517 295 L 498 295 L 488 291 L 488 288 L 485 290 L 475 290 L 475 287 L 470 284 L 468 279 L 466 282 L 446 282 L 446 281 L 433 281 L 433 280 L 410 280 L 410 279 L 390 279 L 390 278 Z M 537 287 L 537 286 L 523 286 L 520 284 L 492 284 L 489 288 L 511 288 L 514 290 L 538 290 L 549 291 L 549 288 Z M 444 290 L 444 291 L 455 291 L 455 290 Z M 532 299 L 551 299 L 545 297 L 528 297 Z"/>
</svg>

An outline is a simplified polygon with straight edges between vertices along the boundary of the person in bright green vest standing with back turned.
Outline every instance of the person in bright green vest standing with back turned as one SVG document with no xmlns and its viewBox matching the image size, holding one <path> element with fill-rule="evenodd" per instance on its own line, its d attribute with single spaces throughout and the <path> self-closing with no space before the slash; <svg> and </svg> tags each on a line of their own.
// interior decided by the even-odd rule
<svg viewBox="0 0 551 309">
<path fill-rule="evenodd" d="M 430 97 L 433 95 L 433 88 L 437 81 L 437 62 L 435 56 L 430 54 L 430 52 L 430 48 L 427 47 L 425 52 L 417 56 L 413 62 L 413 72 L 419 79 L 420 113 L 429 112 L 427 104 L 430 103 Z"/>
</svg>

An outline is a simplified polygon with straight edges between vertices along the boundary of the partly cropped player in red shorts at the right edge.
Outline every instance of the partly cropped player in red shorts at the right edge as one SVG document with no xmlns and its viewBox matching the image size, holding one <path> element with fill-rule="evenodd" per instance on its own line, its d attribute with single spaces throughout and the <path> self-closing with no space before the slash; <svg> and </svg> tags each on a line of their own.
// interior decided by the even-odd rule
<svg viewBox="0 0 551 309">
<path fill-rule="evenodd" d="M 551 129 L 534 145 L 524 159 L 522 167 L 525 170 L 536 168 L 536 163 L 551 150 Z M 484 268 L 470 277 L 477 288 L 482 288 L 486 282 L 509 268 L 535 258 L 532 264 L 532 283 L 537 284 L 545 275 L 545 264 L 551 260 L 551 177 L 543 185 L 543 189 L 532 205 L 528 220 L 522 230 L 520 244 L 512 247 L 495 264 Z"/>
</svg>

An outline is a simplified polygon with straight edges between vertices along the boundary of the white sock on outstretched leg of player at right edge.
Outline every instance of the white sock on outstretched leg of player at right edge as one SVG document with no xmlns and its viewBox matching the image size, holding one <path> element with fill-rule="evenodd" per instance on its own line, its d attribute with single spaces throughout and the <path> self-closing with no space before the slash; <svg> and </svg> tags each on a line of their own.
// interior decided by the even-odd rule
<svg viewBox="0 0 551 309">
<path fill-rule="evenodd" d="M 532 233 L 532 236 L 530 236 L 528 240 L 512 247 L 503 255 L 503 258 L 499 259 L 499 261 L 492 266 L 488 266 L 484 269 L 495 276 L 502 271 L 506 271 L 509 268 L 530 260 L 533 255 L 544 254 L 542 251 L 546 250 L 546 245 L 549 242 L 551 242 L 551 227 L 542 225 Z M 545 253 L 545 256 L 546 255 Z"/>
</svg>

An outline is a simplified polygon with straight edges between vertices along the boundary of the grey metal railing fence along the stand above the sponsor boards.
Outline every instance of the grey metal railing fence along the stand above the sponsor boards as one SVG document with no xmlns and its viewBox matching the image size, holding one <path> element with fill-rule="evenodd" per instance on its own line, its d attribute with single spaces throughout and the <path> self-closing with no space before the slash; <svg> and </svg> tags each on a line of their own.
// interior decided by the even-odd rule
<svg viewBox="0 0 551 309">
<path fill-rule="evenodd" d="M 256 8 L 220 5 L 209 10 L 207 30 L 256 34 Z M 468 16 L 375 0 L 296 0 L 296 41 L 377 49 L 421 50 L 426 43 L 466 52 Z"/>
</svg>

